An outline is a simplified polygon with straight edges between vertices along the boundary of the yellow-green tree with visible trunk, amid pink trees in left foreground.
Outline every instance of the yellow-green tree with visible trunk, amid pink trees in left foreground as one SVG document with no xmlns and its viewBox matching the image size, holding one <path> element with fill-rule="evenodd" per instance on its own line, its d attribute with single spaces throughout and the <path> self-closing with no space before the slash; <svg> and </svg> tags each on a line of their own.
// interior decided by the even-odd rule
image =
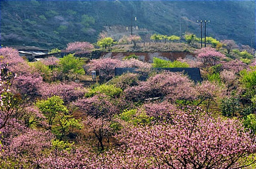
<svg viewBox="0 0 256 169">
<path fill-rule="evenodd" d="M 68 114 L 68 109 L 59 96 L 53 96 L 47 100 L 41 100 L 36 102 L 36 106 L 42 112 L 47 119 L 47 130 L 52 130 L 52 125 L 56 119 L 61 119 Z"/>
</svg>

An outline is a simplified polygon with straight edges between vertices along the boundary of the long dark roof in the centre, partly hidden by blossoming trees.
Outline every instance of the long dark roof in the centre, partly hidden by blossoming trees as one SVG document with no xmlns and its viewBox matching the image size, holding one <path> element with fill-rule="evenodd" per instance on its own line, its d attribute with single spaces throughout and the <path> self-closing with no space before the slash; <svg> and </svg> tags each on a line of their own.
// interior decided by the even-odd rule
<svg viewBox="0 0 256 169">
<path fill-rule="evenodd" d="M 120 76 L 126 72 L 136 72 L 137 68 L 115 68 L 115 76 Z M 156 70 L 168 70 L 170 72 L 184 72 L 195 82 L 202 81 L 199 68 L 152 68 Z"/>
</svg>

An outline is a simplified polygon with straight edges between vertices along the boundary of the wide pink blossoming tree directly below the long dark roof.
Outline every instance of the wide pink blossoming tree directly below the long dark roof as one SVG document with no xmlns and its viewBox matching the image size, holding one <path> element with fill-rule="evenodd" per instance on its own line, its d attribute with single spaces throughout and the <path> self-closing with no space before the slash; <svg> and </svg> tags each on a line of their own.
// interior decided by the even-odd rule
<svg viewBox="0 0 256 169">
<path fill-rule="evenodd" d="M 124 90 L 126 99 L 144 100 L 166 98 L 191 100 L 195 98 L 194 83 L 181 73 L 163 72 L 141 81 L 138 86 Z"/>
</svg>

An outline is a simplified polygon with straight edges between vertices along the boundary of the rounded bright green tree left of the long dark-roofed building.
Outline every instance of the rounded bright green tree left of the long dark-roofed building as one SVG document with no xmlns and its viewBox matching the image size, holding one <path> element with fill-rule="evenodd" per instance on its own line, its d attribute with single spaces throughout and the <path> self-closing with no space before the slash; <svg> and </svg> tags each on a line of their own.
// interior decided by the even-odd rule
<svg viewBox="0 0 256 169">
<path fill-rule="evenodd" d="M 63 73 L 73 72 L 75 74 L 84 74 L 82 59 L 74 57 L 74 54 L 68 54 L 60 59 L 59 64 Z"/>
</svg>

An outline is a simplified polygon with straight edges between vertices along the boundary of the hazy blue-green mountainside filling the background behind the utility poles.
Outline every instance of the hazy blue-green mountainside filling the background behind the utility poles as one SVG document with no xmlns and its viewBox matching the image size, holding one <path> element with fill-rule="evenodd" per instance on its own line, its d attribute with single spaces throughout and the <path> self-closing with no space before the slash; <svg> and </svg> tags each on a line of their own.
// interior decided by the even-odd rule
<svg viewBox="0 0 256 169">
<path fill-rule="evenodd" d="M 96 42 L 101 31 L 200 35 L 197 19 L 209 19 L 207 35 L 255 45 L 254 1 L 1 1 L 3 45 L 64 48 L 68 42 Z M 118 31 L 111 31 L 114 26 Z M 115 37 L 115 36 L 114 36 Z"/>
</svg>

